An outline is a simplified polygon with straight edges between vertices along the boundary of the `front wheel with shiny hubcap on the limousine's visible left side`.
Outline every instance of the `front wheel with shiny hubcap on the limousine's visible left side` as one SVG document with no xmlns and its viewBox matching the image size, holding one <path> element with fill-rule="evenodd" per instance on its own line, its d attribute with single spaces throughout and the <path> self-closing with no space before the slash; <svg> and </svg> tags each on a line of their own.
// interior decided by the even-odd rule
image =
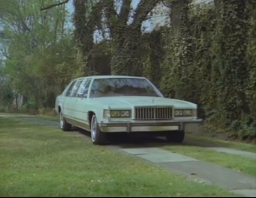
<svg viewBox="0 0 256 198">
<path fill-rule="evenodd" d="M 100 131 L 95 115 L 91 118 L 91 141 L 94 145 L 103 145 L 106 143 L 107 135 Z"/>
</svg>

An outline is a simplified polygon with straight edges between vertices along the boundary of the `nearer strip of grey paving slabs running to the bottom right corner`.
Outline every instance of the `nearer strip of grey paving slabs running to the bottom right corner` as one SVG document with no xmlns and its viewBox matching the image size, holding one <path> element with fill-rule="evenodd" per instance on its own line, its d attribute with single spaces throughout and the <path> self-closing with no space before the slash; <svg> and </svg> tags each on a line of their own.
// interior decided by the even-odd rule
<svg viewBox="0 0 256 198">
<path fill-rule="evenodd" d="M 251 175 L 160 148 L 120 148 L 119 150 L 157 163 L 167 170 L 187 175 L 188 179 L 195 182 L 218 185 L 246 197 L 256 196 L 256 177 Z"/>
</svg>

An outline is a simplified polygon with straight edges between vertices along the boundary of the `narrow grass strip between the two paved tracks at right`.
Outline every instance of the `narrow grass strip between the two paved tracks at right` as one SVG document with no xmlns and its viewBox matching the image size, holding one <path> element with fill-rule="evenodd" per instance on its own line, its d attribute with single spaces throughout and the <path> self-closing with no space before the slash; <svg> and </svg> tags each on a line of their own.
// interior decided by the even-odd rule
<svg viewBox="0 0 256 198">
<path fill-rule="evenodd" d="M 256 160 L 253 158 L 231 155 L 199 146 L 172 145 L 161 148 L 256 176 Z"/>
</svg>

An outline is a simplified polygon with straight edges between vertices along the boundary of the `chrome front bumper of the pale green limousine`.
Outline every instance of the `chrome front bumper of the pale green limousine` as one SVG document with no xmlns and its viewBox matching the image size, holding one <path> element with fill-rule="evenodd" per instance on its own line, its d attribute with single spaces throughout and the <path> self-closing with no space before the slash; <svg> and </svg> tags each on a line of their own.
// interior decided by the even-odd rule
<svg viewBox="0 0 256 198">
<path fill-rule="evenodd" d="M 99 123 L 102 132 L 157 132 L 157 131 L 185 131 L 197 133 L 201 131 L 202 119 L 172 120 L 172 121 L 147 121 L 147 122 L 102 122 Z"/>
</svg>

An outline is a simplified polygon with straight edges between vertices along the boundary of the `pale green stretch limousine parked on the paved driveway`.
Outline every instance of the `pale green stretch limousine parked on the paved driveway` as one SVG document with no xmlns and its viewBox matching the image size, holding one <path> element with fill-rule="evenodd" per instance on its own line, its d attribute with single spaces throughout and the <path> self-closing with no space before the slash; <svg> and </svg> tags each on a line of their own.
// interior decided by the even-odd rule
<svg viewBox="0 0 256 198">
<path fill-rule="evenodd" d="M 165 98 L 146 78 L 95 75 L 72 80 L 55 101 L 60 126 L 91 132 L 95 145 L 106 143 L 108 133 L 151 133 L 181 143 L 187 132 L 202 123 L 197 105 Z"/>
</svg>

